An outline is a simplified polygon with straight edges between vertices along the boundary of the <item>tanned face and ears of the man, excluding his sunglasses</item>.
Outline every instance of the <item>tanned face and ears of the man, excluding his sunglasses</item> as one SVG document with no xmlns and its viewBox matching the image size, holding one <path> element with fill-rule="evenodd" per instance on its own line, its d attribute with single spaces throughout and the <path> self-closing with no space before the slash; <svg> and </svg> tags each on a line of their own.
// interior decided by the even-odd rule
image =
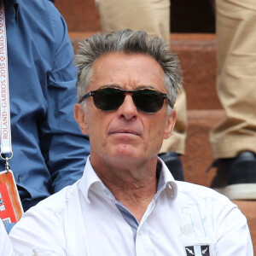
<svg viewBox="0 0 256 256">
<path fill-rule="evenodd" d="M 114 85 L 125 90 L 150 87 L 167 93 L 160 65 L 148 55 L 110 53 L 93 65 L 93 75 L 86 90 Z M 97 109 L 92 96 L 86 100 L 86 112 L 78 104 L 75 117 L 84 134 L 90 135 L 90 159 L 149 160 L 155 157 L 164 138 L 172 133 L 176 113 L 167 115 L 167 102 L 156 113 L 143 113 L 126 94 L 114 111 Z"/>
</svg>

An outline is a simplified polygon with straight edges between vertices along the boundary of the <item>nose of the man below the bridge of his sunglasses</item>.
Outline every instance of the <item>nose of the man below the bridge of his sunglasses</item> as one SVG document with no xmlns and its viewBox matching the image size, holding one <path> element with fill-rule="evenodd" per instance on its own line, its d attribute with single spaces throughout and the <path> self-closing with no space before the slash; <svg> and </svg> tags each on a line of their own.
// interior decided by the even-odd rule
<svg viewBox="0 0 256 256">
<path fill-rule="evenodd" d="M 134 105 L 132 97 L 130 94 L 125 95 L 125 100 L 123 104 L 118 109 L 119 118 L 125 118 L 127 120 L 137 118 L 137 108 Z"/>
</svg>

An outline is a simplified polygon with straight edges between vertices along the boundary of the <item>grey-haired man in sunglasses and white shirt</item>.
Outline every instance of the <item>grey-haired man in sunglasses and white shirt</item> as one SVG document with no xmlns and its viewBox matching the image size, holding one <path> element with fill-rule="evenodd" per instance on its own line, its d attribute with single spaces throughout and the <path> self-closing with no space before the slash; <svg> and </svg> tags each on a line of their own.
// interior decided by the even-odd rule
<svg viewBox="0 0 256 256">
<path fill-rule="evenodd" d="M 15 253 L 253 255 L 236 205 L 175 181 L 157 156 L 182 81 L 166 44 L 146 32 L 96 34 L 76 63 L 74 113 L 90 135 L 84 176 L 24 214 L 10 233 Z"/>
</svg>

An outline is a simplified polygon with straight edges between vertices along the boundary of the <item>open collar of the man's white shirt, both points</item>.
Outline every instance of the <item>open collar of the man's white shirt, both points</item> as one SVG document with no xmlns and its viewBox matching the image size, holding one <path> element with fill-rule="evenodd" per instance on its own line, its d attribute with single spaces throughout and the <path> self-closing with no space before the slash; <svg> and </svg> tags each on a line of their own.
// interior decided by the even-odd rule
<svg viewBox="0 0 256 256">
<path fill-rule="evenodd" d="M 167 189 L 172 197 L 172 201 L 177 198 L 177 183 L 172 177 L 171 172 L 167 168 L 163 160 L 158 158 L 158 166 L 160 168 L 160 177 L 158 189 L 154 199 L 156 199 L 162 190 Z M 87 158 L 84 166 L 84 174 L 79 182 L 79 189 L 82 191 L 85 201 L 90 204 L 89 191 L 93 190 L 96 193 L 106 193 L 105 185 L 102 183 L 100 177 L 96 175 L 93 167 L 90 164 L 90 156 Z"/>
</svg>

